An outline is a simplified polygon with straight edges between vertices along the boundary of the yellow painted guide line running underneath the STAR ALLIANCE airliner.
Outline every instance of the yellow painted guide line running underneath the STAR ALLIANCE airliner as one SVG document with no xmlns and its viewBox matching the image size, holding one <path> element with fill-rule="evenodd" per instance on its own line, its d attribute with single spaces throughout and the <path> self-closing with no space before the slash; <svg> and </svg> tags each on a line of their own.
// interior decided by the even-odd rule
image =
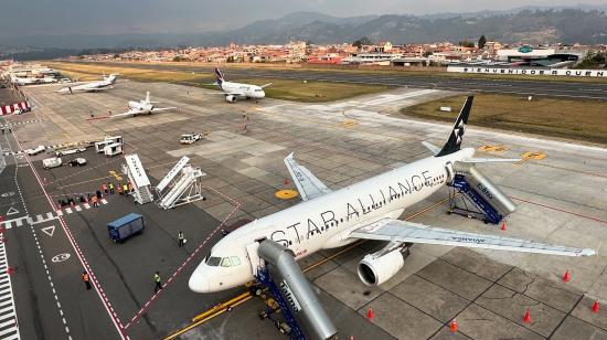
<svg viewBox="0 0 607 340">
<path fill-rule="evenodd" d="M 405 217 L 405 220 L 406 220 L 406 221 L 413 220 L 413 219 L 415 219 L 415 217 L 417 217 L 417 216 L 419 216 L 419 215 L 422 215 L 422 214 L 424 214 L 424 213 L 426 213 L 426 212 L 428 212 L 428 211 L 435 209 L 436 206 L 438 206 L 438 205 L 445 203 L 448 199 L 449 199 L 449 198 L 445 198 L 445 199 L 443 199 L 443 200 L 440 200 L 440 201 L 438 201 L 438 202 L 436 202 L 436 203 L 434 203 L 434 204 L 432 204 L 432 205 L 429 205 L 429 206 L 426 206 L 426 208 L 424 208 L 423 210 L 420 210 L 420 211 L 418 211 L 418 212 L 416 212 L 416 213 L 414 213 L 414 214 L 412 214 L 412 215 Z M 318 267 L 318 266 L 321 266 L 321 265 L 326 264 L 327 262 L 329 262 L 329 261 L 331 261 L 331 259 L 333 259 L 333 258 L 336 258 L 336 257 L 338 257 L 338 256 L 340 256 L 340 255 L 342 255 L 342 254 L 344 254 L 344 253 L 347 253 L 347 252 L 353 249 L 354 247 L 356 247 L 358 245 L 360 245 L 360 244 L 362 244 L 362 243 L 364 243 L 364 242 L 366 242 L 366 240 L 356 241 L 356 242 L 354 242 L 353 244 L 349 245 L 348 247 L 345 247 L 345 248 L 339 251 L 338 253 L 336 253 L 336 254 L 333 254 L 333 255 L 331 255 L 331 256 L 328 256 L 328 257 L 326 257 L 326 258 L 323 258 L 323 259 L 321 259 L 321 261 L 318 261 L 318 262 L 311 264 L 310 266 L 306 267 L 302 272 L 306 273 L 306 272 L 309 272 L 309 270 L 311 270 L 311 269 L 313 269 L 313 268 L 316 268 L 316 267 Z M 230 299 L 230 300 L 227 300 L 227 301 L 225 301 L 225 302 L 220 302 L 220 304 L 213 306 L 213 308 L 211 308 L 211 309 L 209 309 L 209 310 L 206 310 L 206 311 L 204 311 L 204 312 L 202 312 L 202 314 L 195 316 L 194 318 L 192 318 L 193 323 L 191 323 L 191 325 L 189 325 L 189 326 L 187 326 L 187 327 L 184 327 L 184 328 L 182 328 L 182 329 L 180 329 L 180 330 L 177 330 L 177 331 L 174 331 L 173 333 L 167 336 L 167 337 L 164 338 L 164 340 L 175 339 L 177 337 L 179 337 L 179 336 L 181 336 L 181 334 L 183 334 L 183 333 L 185 333 L 185 332 L 188 332 L 188 331 L 190 331 L 190 330 L 192 330 L 192 329 L 194 329 L 194 328 L 196 328 L 196 327 L 203 325 L 204 322 L 206 322 L 206 321 L 209 321 L 209 320 L 211 320 L 211 319 L 213 319 L 213 318 L 215 318 L 215 317 L 222 315 L 223 312 L 225 312 L 225 311 L 227 310 L 227 308 L 234 308 L 234 307 L 236 307 L 236 306 L 239 306 L 239 305 L 242 305 L 242 304 L 244 304 L 244 302 L 251 300 L 252 298 L 253 298 L 253 296 L 251 295 L 251 293 L 249 293 L 249 291 L 246 291 L 246 293 L 243 293 L 243 294 L 241 294 L 241 295 L 238 295 L 238 296 L 236 296 L 236 297 L 234 297 L 234 298 L 232 298 L 232 299 Z"/>
</svg>

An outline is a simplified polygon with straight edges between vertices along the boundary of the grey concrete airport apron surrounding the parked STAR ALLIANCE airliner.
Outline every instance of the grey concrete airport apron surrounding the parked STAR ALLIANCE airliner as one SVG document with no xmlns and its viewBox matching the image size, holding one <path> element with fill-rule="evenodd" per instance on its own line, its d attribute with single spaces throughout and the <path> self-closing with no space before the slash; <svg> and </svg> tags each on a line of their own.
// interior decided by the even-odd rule
<svg viewBox="0 0 607 340">
<path fill-rule="evenodd" d="M 244 291 L 196 295 L 187 281 L 221 237 L 217 231 L 223 225 L 262 217 L 298 202 L 275 195 L 277 190 L 292 189 L 285 181 L 289 179 L 285 156 L 295 151 L 301 164 L 337 189 L 428 157 L 420 141 L 443 145 L 450 130 L 448 125 L 398 114 L 402 106 L 450 95 L 434 89 L 400 88 L 329 104 L 273 99 L 228 104 L 214 92 L 173 84 L 120 81 L 110 91 L 77 95 L 58 95 L 56 88 L 25 88 L 35 109 L 8 117 L 15 124 L 13 134 L 0 138 L 2 151 L 10 153 L 2 157 L 4 166 L 0 167 L 0 213 L 7 220 L 6 256 L 14 270 L 10 275 L 11 310 L 17 311 L 12 323 L 4 325 L 9 318 L 0 310 L 0 336 L 4 327 L 14 332 L 17 325 L 23 339 L 111 339 L 120 332 L 131 339 L 164 337 Z M 159 106 L 180 108 L 151 116 L 86 120 L 110 110 L 126 111 L 127 100 L 142 97 L 146 91 L 153 100 L 162 102 Z M 188 132 L 207 135 L 192 146 L 179 145 L 180 135 Z M 63 209 L 60 215 L 60 198 L 124 181 L 123 158 L 108 159 L 87 150 L 64 157 L 85 157 L 89 161 L 86 167 L 45 170 L 40 160 L 49 155 L 12 155 L 40 144 L 98 140 L 105 135 L 121 135 L 126 152 L 140 156 L 152 182 L 179 157 L 189 156 L 207 173 L 202 181 L 206 200 L 163 211 L 107 194 L 99 208 L 79 204 L 79 210 Z M 447 189 L 406 211 L 405 217 L 435 226 L 592 247 L 599 255 L 564 258 L 415 245 L 395 277 L 380 287 L 366 287 L 355 268 L 376 243 L 313 254 L 300 264 L 311 268 L 306 275 L 338 326 L 340 338 L 607 338 L 607 314 L 604 309 L 594 314 L 590 308 L 595 299 L 607 301 L 607 258 L 601 255 L 607 236 L 607 150 L 473 127 L 467 129 L 464 144 L 484 147 L 486 151 L 479 152 L 482 157 L 514 158 L 531 152 L 519 164 L 482 166 L 519 204 L 507 230 L 446 214 Z M 106 224 L 129 212 L 146 217 L 146 231 L 115 244 L 107 236 Z M 177 246 L 179 230 L 188 238 L 184 248 Z M 7 262 L 1 257 L 0 264 Z M 166 281 L 189 258 L 174 280 L 148 302 L 153 296 L 153 273 L 160 270 Z M 95 277 L 95 289 L 85 289 L 81 279 L 85 267 Z M 571 280 L 563 283 L 566 270 Z M 0 304 L 7 299 L 2 288 Z M 370 307 L 372 320 L 366 318 Z M 263 301 L 253 299 L 182 338 L 283 338 L 270 322 L 258 319 L 263 309 Z M 523 322 L 526 309 L 529 323 Z M 141 310 L 141 318 L 134 320 Z M 448 328 L 454 318 L 457 333 Z"/>
</svg>

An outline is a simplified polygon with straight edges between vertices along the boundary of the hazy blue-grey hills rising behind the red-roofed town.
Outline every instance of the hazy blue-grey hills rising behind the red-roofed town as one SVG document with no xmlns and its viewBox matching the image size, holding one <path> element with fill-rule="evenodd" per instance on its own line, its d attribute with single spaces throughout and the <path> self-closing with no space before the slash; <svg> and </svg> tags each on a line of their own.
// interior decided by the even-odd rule
<svg viewBox="0 0 607 340">
<path fill-rule="evenodd" d="M 353 42 L 362 36 L 392 43 L 425 43 L 464 39 L 530 44 L 607 43 L 607 6 L 577 8 L 520 8 L 509 11 L 433 15 L 368 15 L 336 18 L 317 12 L 296 12 L 262 20 L 243 28 L 191 34 L 120 34 L 13 36 L 0 45 L 36 47 L 152 47 L 180 45 L 280 44 L 291 40 L 312 43 Z"/>
</svg>

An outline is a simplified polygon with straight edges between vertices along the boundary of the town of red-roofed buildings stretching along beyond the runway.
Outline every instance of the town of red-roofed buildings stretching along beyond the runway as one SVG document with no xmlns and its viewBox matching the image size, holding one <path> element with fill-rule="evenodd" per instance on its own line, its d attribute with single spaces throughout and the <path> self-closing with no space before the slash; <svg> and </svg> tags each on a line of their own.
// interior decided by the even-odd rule
<svg viewBox="0 0 607 340">
<path fill-rule="evenodd" d="M 326 65 L 444 66 L 454 63 L 540 67 L 573 66 L 592 53 L 604 53 L 607 45 L 508 45 L 497 41 L 397 45 L 372 43 L 363 38 L 352 44 L 308 44 L 302 41 L 273 45 L 185 47 L 159 51 L 86 54 L 74 60 L 118 60 L 138 62 L 201 63 L 286 63 Z"/>
</svg>

